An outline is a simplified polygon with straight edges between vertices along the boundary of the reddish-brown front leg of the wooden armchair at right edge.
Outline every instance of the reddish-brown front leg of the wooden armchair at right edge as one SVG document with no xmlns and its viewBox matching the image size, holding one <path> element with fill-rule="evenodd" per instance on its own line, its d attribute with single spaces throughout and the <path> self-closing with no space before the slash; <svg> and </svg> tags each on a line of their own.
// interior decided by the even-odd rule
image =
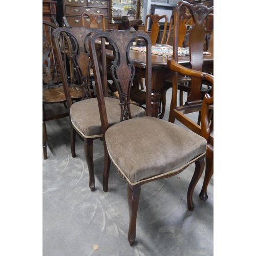
<svg viewBox="0 0 256 256">
<path fill-rule="evenodd" d="M 208 146 L 206 150 L 206 156 L 205 156 L 204 182 L 203 182 L 201 192 L 199 194 L 199 198 L 203 201 L 208 199 L 207 187 L 213 174 L 214 174 L 214 148 L 212 146 Z"/>
</svg>

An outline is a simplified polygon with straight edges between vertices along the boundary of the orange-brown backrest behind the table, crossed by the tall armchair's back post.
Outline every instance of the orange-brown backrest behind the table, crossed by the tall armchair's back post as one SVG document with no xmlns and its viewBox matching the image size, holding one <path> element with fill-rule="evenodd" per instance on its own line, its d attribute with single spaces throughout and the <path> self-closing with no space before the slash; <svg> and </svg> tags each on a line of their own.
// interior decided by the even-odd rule
<svg viewBox="0 0 256 256">
<path fill-rule="evenodd" d="M 183 46 L 184 38 L 186 35 L 186 31 L 187 31 L 186 22 L 189 18 L 191 18 L 191 14 L 187 14 L 187 13 L 180 14 L 179 32 L 178 32 L 179 33 L 178 47 Z M 172 16 L 170 16 L 169 29 L 168 29 L 168 33 L 167 33 L 167 37 L 166 37 L 167 45 L 169 44 L 169 39 L 170 39 L 170 36 L 172 35 L 173 25 L 174 25 L 174 14 L 172 14 Z"/>
</svg>

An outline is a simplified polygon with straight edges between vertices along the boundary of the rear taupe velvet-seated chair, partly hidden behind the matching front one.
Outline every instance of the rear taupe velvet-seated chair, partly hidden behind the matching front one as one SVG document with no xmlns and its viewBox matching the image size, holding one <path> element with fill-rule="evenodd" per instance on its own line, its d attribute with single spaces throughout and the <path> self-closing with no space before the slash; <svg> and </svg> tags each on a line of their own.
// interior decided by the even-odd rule
<svg viewBox="0 0 256 256">
<path fill-rule="evenodd" d="M 73 103 L 68 90 L 70 78 L 67 67 L 76 70 L 77 76 L 89 88 L 88 75 L 91 69 L 91 56 L 88 46 L 90 34 L 101 31 L 95 28 L 71 27 L 58 28 L 53 31 L 53 42 L 56 48 L 57 61 L 60 69 L 61 80 L 65 91 L 70 123 L 71 123 L 71 153 L 76 157 L 75 136 L 79 134 L 84 140 L 84 154 L 89 170 L 89 187 L 95 189 L 94 163 L 93 163 L 93 140 L 102 138 L 100 115 L 98 110 L 97 98 L 91 98 L 89 94 L 85 100 Z M 59 42 L 62 40 L 67 51 L 62 52 Z M 100 44 L 99 44 L 100 45 Z M 67 54 L 68 56 L 65 56 Z M 66 60 L 66 61 L 65 61 Z M 104 80 L 105 81 L 105 80 Z M 119 122 L 120 106 L 119 100 L 108 97 L 108 90 L 104 90 L 106 108 L 109 115 L 110 124 Z M 117 103 L 118 102 L 118 103 Z M 117 103 L 117 104 L 116 104 Z M 133 117 L 144 116 L 145 111 L 139 106 L 131 107 Z"/>
</svg>

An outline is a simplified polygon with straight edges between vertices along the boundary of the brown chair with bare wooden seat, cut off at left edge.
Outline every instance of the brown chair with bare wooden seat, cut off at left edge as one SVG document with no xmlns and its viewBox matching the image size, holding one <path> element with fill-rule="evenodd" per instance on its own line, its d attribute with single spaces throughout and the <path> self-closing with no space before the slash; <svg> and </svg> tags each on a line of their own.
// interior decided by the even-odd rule
<svg viewBox="0 0 256 256">
<path fill-rule="evenodd" d="M 58 27 L 53 23 L 42 20 L 42 148 L 44 159 L 48 158 L 46 122 L 69 115 L 52 41 L 52 32 L 56 28 Z M 81 99 L 82 88 L 77 87 L 75 90 L 71 90 L 71 97 L 72 99 Z M 62 103 L 63 111 L 53 116 L 45 110 L 45 105 L 55 103 Z"/>
</svg>

